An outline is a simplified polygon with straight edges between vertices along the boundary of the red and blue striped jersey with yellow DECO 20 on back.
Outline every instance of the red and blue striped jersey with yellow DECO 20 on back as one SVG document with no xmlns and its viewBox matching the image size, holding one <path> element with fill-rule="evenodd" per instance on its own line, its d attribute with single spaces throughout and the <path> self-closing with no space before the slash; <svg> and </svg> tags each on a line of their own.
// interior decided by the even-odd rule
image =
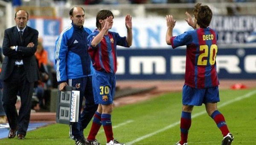
<svg viewBox="0 0 256 145">
<path fill-rule="evenodd" d="M 186 85 L 192 88 L 219 85 L 216 70 L 217 40 L 217 32 L 209 27 L 186 31 L 171 38 L 172 48 L 186 45 Z"/>
</svg>

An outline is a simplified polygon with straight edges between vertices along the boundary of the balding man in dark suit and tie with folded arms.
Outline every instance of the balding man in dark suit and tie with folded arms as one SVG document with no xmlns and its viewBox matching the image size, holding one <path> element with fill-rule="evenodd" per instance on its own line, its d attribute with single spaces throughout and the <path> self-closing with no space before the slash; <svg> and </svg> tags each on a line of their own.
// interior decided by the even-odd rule
<svg viewBox="0 0 256 145">
<path fill-rule="evenodd" d="M 0 79 L 3 80 L 3 107 L 10 126 L 8 137 L 14 138 L 17 132 L 18 139 L 24 139 L 29 126 L 34 82 L 39 79 L 35 60 L 38 31 L 26 26 L 27 11 L 17 11 L 14 20 L 16 26 L 4 31 L 5 58 Z M 19 114 L 15 108 L 18 93 L 21 100 Z"/>
</svg>

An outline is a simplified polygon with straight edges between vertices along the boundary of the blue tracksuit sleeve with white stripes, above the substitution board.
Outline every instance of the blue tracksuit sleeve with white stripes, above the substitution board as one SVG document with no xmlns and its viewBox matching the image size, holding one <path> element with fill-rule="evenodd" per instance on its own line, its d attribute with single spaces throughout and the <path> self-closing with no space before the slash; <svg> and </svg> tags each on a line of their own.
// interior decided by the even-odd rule
<svg viewBox="0 0 256 145">
<path fill-rule="evenodd" d="M 61 33 L 55 41 L 55 65 L 56 65 L 56 76 L 59 83 L 67 81 L 66 72 L 66 56 L 67 56 L 67 42 L 68 33 L 67 31 Z"/>
</svg>

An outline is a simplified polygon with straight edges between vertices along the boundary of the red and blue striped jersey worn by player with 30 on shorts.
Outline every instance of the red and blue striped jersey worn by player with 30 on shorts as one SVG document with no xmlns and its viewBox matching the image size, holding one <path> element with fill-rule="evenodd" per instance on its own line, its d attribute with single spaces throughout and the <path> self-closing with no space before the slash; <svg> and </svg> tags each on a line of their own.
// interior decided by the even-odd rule
<svg viewBox="0 0 256 145">
<path fill-rule="evenodd" d="M 129 47 L 126 37 L 120 37 L 118 33 L 108 31 L 108 35 L 104 35 L 101 42 L 96 47 L 92 47 L 91 42 L 97 34 L 99 34 L 98 29 L 87 37 L 88 53 L 90 54 L 93 68 L 96 71 L 115 74 L 117 70 L 116 45 Z"/>
</svg>

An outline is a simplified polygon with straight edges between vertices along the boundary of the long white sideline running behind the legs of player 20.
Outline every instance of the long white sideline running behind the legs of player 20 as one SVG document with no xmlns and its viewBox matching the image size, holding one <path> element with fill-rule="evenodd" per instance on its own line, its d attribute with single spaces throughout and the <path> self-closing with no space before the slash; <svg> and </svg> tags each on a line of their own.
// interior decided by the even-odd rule
<svg viewBox="0 0 256 145">
<path fill-rule="evenodd" d="M 253 94 L 256 94 L 256 90 L 255 90 L 255 91 L 251 91 L 251 92 L 249 92 L 249 93 L 247 93 L 247 94 L 245 94 L 245 95 L 243 95 L 243 96 L 237 97 L 237 98 L 235 98 L 235 99 L 233 99 L 233 100 L 224 102 L 223 104 L 218 105 L 218 108 L 221 108 L 221 107 L 223 107 L 223 106 L 229 105 L 229 104 L 231 104 L 231 103 L 233 103 L 233 102 L 237 102 L 237 101 L 243 100 L 243 99 L 245 99 L 245 98 L 249 98 L 249 97 L 251 97 Z M 195 114 L 195 115 L 192 115 L 191 118 L 198 117 L 198 116 L 200 116 L 200 115 L 202 115 L 202 114 L 205 114 L 205 113 L 206 113 L 206 111 L 201 111 L 201 112 L 199 112 L 199 113 L 197 113 L 197 114 Z M 158 130 L 158 131 L 152 132 L 151 134 L 147 134 L 147 135 L 145 135 L 145 136 L 141 136 L 141 137 L 135 139 L 134 141 L 128 142 L 128 143 L 126 143 L 126 145 L 132 145 L 132 144 L 134 144 L 134 143 L 136 143 L 136 142 L 139 142 L 139 141 L 141 141 L 141 140 L 143 140 L 143 139 L 145 139 L 145 138 L 151 137 L 151 136 L 153 136 L 153 135 L 155 135 L 155 134 L 158 134 L 158 133 L 160 133 L 160 132 L 166 131 L 167 129 L 170 129 L 170 128 L 172 128 L 172 127 L 174 127 L 174 126 L 176 126 L 176 125 L 179 125 L 179 124 L 180 124 L 180 121 L 177 121 L 177 122 L 175 122 L 175 123 L 173 123 L 173 124 L 171 124 L 171 125 L 169 125 L 169 126 L 166 126 L 165 128 L 162 128 L 162 129 L 160 129 L 160 130 Z"/>
</svg>

